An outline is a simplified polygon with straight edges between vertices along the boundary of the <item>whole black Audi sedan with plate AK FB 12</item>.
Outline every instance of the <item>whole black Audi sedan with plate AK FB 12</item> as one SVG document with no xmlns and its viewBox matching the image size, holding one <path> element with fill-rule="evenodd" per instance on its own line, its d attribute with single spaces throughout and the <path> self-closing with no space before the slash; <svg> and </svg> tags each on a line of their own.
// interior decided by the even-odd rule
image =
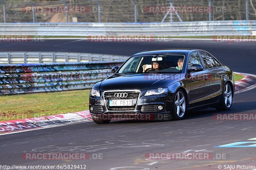
<svg viewBox="0 0 256 170">
<path fill-rule="evenodd" d="M 114 75 L 90 91 L 90 114 L 97 124 L 116 116 L 181 120 L 189 110 L 232 106 L 233 72 L 204 50 L 143 51 L 111 71 Z"/>
</svg>

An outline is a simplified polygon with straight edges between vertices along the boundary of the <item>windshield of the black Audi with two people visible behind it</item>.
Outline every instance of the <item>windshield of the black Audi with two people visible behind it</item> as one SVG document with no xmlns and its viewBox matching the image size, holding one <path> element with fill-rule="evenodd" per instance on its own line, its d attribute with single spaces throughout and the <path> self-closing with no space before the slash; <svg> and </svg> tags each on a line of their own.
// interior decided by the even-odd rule
<svg viewBox="0 0 256 170">
<path fill-rule="evenodd" d="M 141 55 L 130 58 L 118 71 L 124 73 L 181 73 L 185 54 Z"/>
</svg>

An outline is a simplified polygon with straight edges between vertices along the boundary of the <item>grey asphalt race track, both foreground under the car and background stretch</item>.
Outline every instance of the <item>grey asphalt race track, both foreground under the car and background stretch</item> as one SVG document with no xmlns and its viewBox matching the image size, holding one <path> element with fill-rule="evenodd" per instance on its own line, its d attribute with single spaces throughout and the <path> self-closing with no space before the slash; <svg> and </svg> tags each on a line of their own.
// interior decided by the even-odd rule
<svg viewBox="0 0 256 170">
<path fill-rule="evenodd" d="M 170 42 L 1 42 L 0 51 L 58 51 L 132 55 L 161 48 L 199 48 L 212 53 L 233 71 L 256 74 L 255 42 L 173 40 Z M 256 88 L 234 96 L 232 109 L 189 112 L 184 120 L 169 122 L 94 122 L 0 136 L 1 165 L 86 165 L 86 169 L 224 169 L 224 165 L 256 165 L 255 120 L 215 120 L 216 113 L 256 113 Z M 87 108 L 85 108 L 87 110 Z M 248 140 L 255 138 L 255 140 Z M 244 142 L 232 147 L 215 147 Z M 250 142 L 250 143 L 245 143 Z M 250 145 L 250 147 L 249 147 Z M 239 147 L 238 147 L 239 146 Z M 242 146 L 242 147 L 241 147 Z M 24 160 L 22 153 L 93 153 L 102 159 Z M 224 154 L 222 159 L 147 160 L 147 153 Z M 123 168 L 121 168 L 123 167 Z M 220 167 L 220 166 L 219 166 Z"/>
</svg>

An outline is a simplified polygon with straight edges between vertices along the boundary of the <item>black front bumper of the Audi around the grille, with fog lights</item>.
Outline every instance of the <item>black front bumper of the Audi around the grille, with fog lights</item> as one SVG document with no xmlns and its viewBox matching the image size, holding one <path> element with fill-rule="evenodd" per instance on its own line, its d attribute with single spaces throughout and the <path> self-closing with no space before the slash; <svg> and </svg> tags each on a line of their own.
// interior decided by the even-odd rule
<svg viewBox="0 0 256 170">
<path fill-rule="evenodd" d="M 104 100 L 103 92 L 101 92 L 100 97 L 90 96 L 90 114 L 100 119 L 134 118 L 138 120 L 158 120 L 159 118 L 166 118 L 166 115 L 170 116 L 173 101 L 172 93 L 168 92 L 160 95 L 144 96 L 145 93 L 146 90 L 140 91 L 135 110 L 132 111 L 108 111 L 106 106 L 109 102 Z M 163 106 L 163 110 L 156 109 L 159 105 Z M 93 108 L 93 110 L 91 108 Z"/>
</svg>

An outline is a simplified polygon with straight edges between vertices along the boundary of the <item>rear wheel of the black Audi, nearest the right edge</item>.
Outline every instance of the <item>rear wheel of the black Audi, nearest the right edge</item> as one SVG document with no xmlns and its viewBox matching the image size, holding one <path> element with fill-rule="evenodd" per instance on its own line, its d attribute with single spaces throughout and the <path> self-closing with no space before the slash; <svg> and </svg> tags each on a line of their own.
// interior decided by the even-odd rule
<svg viewBox="0 0 256 170">
<path fill-rule="evenodd" d="M 228 95 L 227 95 L 228 94 Z M 230 110 L 233 102 L 233 90 L 229 83 L 224 85 L 223 94 L 221 95 L 221 102 L 216 110 L 218 111 L 226 111 Z"/>
</svg>

